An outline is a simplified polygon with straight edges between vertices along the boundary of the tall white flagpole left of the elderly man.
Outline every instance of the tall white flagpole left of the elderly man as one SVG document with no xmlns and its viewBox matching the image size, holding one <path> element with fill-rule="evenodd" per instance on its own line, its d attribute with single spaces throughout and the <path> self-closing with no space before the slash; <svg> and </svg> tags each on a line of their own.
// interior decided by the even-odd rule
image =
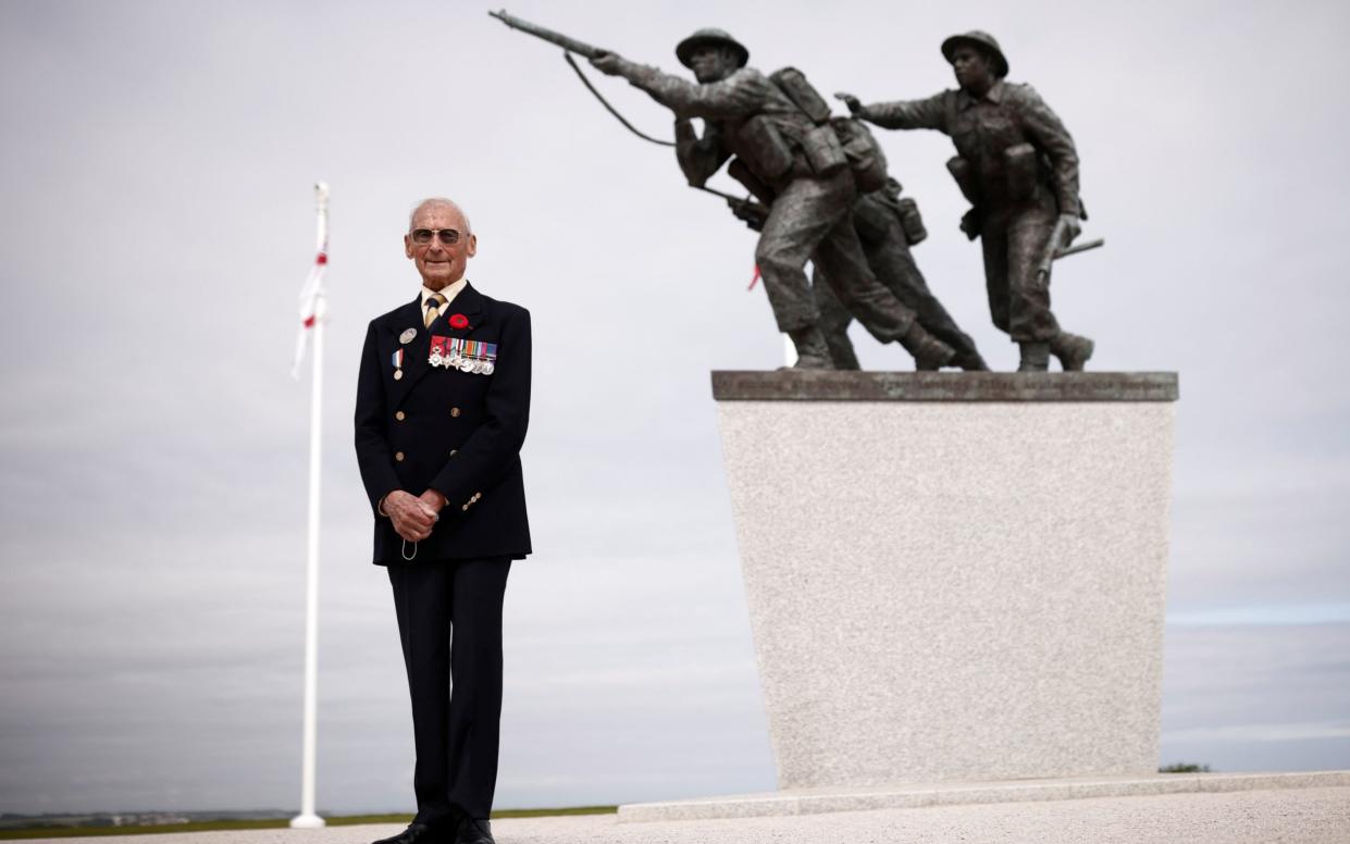
<svg viewBox="0 0 1350 844">
<path fill-rule="evenodd" d="M 319 215 L 320 269 L 328 262 L 328 185 L 315 185 Z M 300 814 L 290 818 L 293 829 L 319 829 L 324 818 L 315 810 L 315 751 L 317 739 L 319 693 L 319 471 L 323 459 L 324 406 L 324 319 L 327 300 L 323 284 L 315 290 L 315 363 L 309 385 L 309 540 L 305 562 L 305 727 L 301 760 Z"/>
</svg>

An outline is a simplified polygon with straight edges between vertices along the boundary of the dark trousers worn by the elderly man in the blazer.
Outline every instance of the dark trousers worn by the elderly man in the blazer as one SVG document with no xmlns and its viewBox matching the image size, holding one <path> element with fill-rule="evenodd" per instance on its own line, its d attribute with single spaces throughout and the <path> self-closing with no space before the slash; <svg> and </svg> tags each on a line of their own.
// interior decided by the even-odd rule
<svg viewBox="0 0 1350 844">
<path fill-rule="evenodd" d="M 509 559 L 389 566 L 413 705 L 418 824 L 486 818 L 497 789 Z"/>
</svg>

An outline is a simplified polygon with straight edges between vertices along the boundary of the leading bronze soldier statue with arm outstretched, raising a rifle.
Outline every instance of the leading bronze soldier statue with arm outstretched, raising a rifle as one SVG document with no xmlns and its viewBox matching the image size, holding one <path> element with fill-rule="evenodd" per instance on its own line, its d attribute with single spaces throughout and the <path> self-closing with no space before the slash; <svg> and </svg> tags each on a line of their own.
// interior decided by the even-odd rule
<svg viewBox="0 0 1350 844">
<path fill-rule="evenodd" d="M 779 331 L 796 347 L 796 366 L 833 369 L 806 278 L 809 259 L 826 270 L 840 298 L 878 340 L 899 342 L 918 369 L 948 363 L 952 350 L 925 331 L 868 267 L 850 219 L 857 196 L 852 172 L 822 169 L 809 154 L 813 139 L 828 142 L 822 132 L 833 130 L 818 126 L 772 80 L 747 68 L 749 51 L 721 30 L 694 32 L 675 47 L 675 55 L 698 84 L 614 53 L 591 63 L 622 76 L 675 112 L 676 153 L 691 185 L 702 185 L 734 154 L 778 197 L 755 258 Z M 702 138 L 690 117 L 706 122 Z"/>
</svg>

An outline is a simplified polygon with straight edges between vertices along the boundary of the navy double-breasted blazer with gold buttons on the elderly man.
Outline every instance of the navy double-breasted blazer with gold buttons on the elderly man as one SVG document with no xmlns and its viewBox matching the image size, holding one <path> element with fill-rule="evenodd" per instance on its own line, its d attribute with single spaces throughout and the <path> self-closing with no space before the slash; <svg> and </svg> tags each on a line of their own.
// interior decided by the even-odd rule
<svg viewBox="0 0 1350 844">
<path fill-rule="evenodd" d="M 460 315 L 468 324 L 452 328 L 450 319 Z M 409 328 L 413 339 L 401 343 Z M 432 336 L 495 343 L 493 374 L 432 366 Z M 401 378 L 394 377 L 398 350 Z M 375 564 L 531 552 L 520 467 L 529 355 L 529 311 L 467 284 L 429 329 L 420 296 L 370 321 L 356 379 L 356 462 L 370 506 L 400 489 L 420 496 L 429 487 L 448 501 L 416 550 L 375 510 Z"/>
</svg>

